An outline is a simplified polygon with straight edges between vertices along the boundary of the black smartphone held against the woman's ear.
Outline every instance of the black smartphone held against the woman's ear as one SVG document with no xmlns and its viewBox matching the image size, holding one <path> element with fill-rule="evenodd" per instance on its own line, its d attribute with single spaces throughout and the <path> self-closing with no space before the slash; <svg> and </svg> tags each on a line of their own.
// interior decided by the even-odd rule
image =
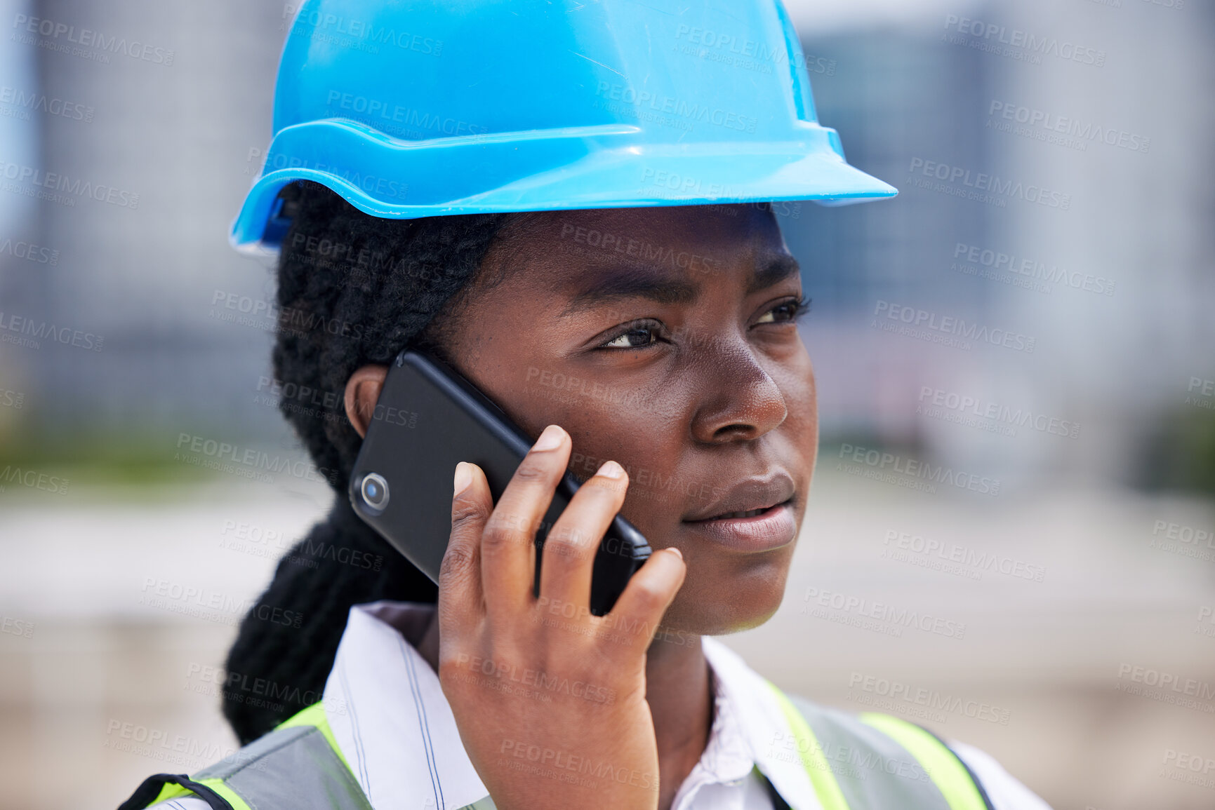
<svg viewBox="0 0 1215 810">
<path fill-rule="evenodd" d="M 355 512 L 431 580 L 451 536 L 452 475 L 459 461 L 485 471 L 497 504 L 535 443 L 503 410 L 439 357 L 407 349 L 389 368 L 350 476 Z M 578 482 L 569 471 L 536 531 L 539 595 L 544 538 Z M 650 544 L 616 515 L 595 554 L 590 612 L 604 616 L 643 562 Z"/>
</svg>

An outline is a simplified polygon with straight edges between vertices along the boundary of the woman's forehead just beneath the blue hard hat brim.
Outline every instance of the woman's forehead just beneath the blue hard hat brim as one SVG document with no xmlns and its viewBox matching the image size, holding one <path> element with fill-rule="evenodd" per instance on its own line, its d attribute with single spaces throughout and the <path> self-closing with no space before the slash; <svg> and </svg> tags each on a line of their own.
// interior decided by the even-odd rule
<svg viewBox="0 0 1215 810">
<path fill-rule="evenodd" d="M 772 211 L 756 205 L 539 211 L 502 243 L 514 285 L 566 298 L 566 313 L 628 295 L 690 302 L 707 284 L 750 293 L 797 273 Z"/>
</svg>

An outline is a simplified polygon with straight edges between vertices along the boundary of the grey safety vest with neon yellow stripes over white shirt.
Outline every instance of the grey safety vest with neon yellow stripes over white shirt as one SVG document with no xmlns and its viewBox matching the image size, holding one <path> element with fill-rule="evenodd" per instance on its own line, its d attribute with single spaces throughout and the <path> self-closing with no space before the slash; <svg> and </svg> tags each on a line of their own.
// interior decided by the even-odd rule
<svg viewBox="0 0 1215 810">
<path fill-rule="evenodd" d="M 888 714 L 852 715 L 775 692 L 792 730 L 779 755 L 801 761 L 823 810 L 993 810 L 936 735 Z M 149 776 L 118 810 L 197 795 L 213 810 L 372 810 L 315 703 L 193 776 Z M 770 791 L 778 810 L 789 805 Z M 495 810 L 486 795 L 460 810 Z"/>
</svg>

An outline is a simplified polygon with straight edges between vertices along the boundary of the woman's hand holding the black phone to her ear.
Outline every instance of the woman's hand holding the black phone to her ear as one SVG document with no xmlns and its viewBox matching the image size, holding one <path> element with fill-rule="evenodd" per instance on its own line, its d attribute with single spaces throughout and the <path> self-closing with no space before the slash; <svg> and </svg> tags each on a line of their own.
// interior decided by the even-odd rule
<svg viewBox="0 0 1215 810">
<path fill-rule="evenodd" d="M 645 652 L 685 566 L 677 550 L 657 551 L 609 614 L 590 613 L 595 553 L 628 487 L 623 468 L 608 461 L 548 533 L 532 595 L 536 529 L 570 449 L 569 435 L 549 425 L 496 508 L 481 469 L 456 468 L 439 574 L 439 679 L 498 810 L 649 810 L 659 758 Z"/>
</svg>

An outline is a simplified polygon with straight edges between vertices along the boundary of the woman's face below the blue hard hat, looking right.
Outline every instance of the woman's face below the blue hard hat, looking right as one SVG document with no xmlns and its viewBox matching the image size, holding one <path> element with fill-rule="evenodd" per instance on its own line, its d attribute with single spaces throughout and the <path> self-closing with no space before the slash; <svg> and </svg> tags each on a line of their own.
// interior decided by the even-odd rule
<svg viewBox="0 0 1215 810">
<path fill-rule="evenodd" d="M 688 565 L 663 624 L 718 635 L 775 612 L 806 512 L 818 408 L 801 295 L 757 206 L 546 211 L 501 232 L 439 342 L 532 436 L 561 425 L 580 481 L 625 466 L 621 514 Z"/>
</svg>

